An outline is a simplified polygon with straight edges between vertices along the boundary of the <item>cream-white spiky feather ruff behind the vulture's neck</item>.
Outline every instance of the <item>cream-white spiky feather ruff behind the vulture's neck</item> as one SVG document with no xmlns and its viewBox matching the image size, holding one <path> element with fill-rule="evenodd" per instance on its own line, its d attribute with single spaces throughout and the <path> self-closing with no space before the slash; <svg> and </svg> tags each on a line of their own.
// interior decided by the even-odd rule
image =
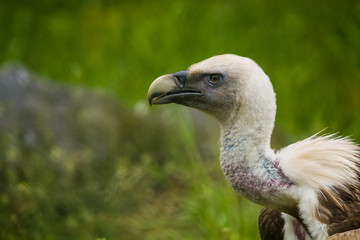
<svg viewBox="0 0 360 240">
<path fill-rule="evenodd" d="M 298 186 L 332 191 L 358 181 L 360 147 L 336 134 L 318 136 L 291 144 L 277 157 L 284 174 Z"/>
</svg>

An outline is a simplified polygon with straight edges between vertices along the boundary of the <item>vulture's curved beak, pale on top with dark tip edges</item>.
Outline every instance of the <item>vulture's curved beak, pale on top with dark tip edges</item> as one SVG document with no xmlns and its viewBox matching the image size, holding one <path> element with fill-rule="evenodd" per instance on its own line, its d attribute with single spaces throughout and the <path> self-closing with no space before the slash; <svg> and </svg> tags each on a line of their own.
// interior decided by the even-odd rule
<svg viewBox="0 0 360 240">
<path fill-rule="evenodd" d="M 166 104 L 186 96 L 202 95 L 198 90 L 187 86 L 188 71 L 166 74 L 153 81 L 148 90 L 148 100 L 152 104 Z"/>
</svg>

